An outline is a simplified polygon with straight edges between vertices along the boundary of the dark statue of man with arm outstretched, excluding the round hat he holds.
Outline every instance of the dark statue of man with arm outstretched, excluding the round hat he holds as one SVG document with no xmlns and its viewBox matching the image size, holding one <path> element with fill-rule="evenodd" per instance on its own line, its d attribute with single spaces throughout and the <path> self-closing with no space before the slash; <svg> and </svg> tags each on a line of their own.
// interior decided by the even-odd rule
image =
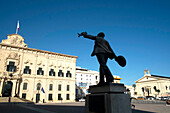
<svg viewBox="0 0 170 113">
<path fill-rule="evenodd" d="M 94 50 L 91 56 L 97 57 L 97 60 L 100 64 L 100 82 L 99 84 L 104 84 L 104 75 L 106 77 L 106 82 L 110 83 L 114 81 L 113 75 L 110 72 L 108 66 L 106 65 L 108 58 L 116 59 L 117 56 L 113 52 L 107 40 L 104 39 L 105 34 L 100 32 L 97 36 L 88 35 L 87 32 L 82 32 L 78 34 L 84 38 L 88 38 L 95 41 Z"/>
</svg>

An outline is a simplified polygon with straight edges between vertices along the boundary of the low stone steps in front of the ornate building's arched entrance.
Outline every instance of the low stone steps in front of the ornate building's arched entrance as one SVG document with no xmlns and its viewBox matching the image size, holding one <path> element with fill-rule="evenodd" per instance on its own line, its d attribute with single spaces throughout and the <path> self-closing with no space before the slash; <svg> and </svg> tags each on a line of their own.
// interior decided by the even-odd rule
<svg viewBox="0 0 170 113">
<path fill-rule="evenodd" d="M 0 104 L 1 103 L 9 103 L 9 97 L 0 97 Z M 23 98 L 19 98 L 19 97 L 11 97 L 10 99 L 10 103 L 14 103 L 14 104 L 34 104 L 34 102 L 23 99 Z"/>
</svg>

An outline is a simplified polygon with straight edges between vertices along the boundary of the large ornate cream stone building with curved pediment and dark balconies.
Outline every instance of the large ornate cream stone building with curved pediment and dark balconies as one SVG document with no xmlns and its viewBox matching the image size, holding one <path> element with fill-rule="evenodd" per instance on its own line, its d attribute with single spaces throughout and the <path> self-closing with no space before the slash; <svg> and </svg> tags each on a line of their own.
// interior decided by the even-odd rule
<svg viewBox="0 0 170 113">
<path fill-rule="evenodd" d="M 76 56 L 28 48 L 18 34 L 0 43 L 0 96 L 34 102 L 75 100 Z"/>
</svg>

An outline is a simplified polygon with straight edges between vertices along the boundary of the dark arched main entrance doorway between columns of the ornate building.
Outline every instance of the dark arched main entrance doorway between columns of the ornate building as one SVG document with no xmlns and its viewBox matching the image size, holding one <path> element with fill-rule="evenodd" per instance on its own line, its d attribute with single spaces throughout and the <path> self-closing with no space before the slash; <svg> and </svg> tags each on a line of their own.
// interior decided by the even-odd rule
<svg viewBox="0 0 170 113">
<path fill-rule="evenodd" d="M 9 96 L 11 96 L 12 86 L 13 86 L 13 83 L 11 81 L 7 81 L 4 84 L 2 97 L 9 97 Z"/>
</svg>

